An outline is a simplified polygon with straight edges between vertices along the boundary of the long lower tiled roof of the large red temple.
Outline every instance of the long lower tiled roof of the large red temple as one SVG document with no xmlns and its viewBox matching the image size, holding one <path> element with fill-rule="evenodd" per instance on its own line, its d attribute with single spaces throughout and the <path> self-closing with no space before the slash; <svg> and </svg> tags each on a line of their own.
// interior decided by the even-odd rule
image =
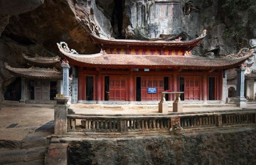
<svg viewBox="0 0 256 165">
<path fill-rule="evenodd" d="M 58 45 L 59 47 L 59 45 Z M 71 54 L 59 47 L 71 64 L 92 67 L 227 69 L 239 66 L 249 56 L 232 59 L 210 59 L 197 56 Z"/>
</svg>

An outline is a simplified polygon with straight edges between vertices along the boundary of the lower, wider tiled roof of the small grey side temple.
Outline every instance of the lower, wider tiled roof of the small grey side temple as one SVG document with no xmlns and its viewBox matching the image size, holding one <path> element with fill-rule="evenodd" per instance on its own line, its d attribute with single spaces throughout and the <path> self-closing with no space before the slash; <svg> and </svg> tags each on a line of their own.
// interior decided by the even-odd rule
<svg viewBox="0 0 256 165">
<path fill-rule="evenodd" d="M 5 63 L 5 68 L 12 72 L 14 75 L 25 77 L 25 78 L 62 78 L 62 72 L 46 68 L 12 68 Z"/>
</svg>

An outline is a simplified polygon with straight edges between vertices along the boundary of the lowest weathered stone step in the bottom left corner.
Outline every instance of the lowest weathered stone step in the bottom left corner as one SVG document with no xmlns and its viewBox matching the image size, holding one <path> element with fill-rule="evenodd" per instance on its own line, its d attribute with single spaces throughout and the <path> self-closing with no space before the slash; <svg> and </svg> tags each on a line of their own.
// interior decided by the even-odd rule
<svg viewBox="0 0 256 165">
<path fill-rule="evenodd" d="M 43 164 L 42 160 L 45 158 L 45 147 L 29 148 L 29 149 L 1 149 L 0 150 L 0 165 L 8 163 L 21 164 Z M 36 161 L 37 160 L 37 161 Z M 39 163 L 38 163 L 39 162 Z"/>
</svg>

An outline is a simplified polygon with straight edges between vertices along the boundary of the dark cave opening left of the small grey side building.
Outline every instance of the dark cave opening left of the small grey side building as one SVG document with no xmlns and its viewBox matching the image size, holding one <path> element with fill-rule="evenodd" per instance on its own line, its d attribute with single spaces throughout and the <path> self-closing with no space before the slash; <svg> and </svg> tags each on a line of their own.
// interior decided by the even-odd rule
<svg viewBox="0 0 256 165">
<path fill-rule="evenodd" d="M 21 99 L 21 78 L 16 78 L 5 92 L 5 100 L 19 101 Z"/>
</svg>

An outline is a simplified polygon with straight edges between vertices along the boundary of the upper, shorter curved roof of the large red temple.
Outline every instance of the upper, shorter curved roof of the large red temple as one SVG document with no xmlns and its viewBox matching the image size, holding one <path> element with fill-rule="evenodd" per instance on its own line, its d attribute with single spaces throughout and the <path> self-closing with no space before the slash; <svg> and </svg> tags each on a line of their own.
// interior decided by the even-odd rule
<svg viewBox="0 0 256 165">
<path fill-rule="evenodd" d="M 202 35 L 193 40 L 124 40 L 124 39 L 104 39 L 97 35 L 91 35 L 91 38 L 95 44 L 106 45 L 134 45 L 134 46 L 171 46 L 171 47 L 195 47 L 205 38 L 206 35 Z"/>
</svg>

